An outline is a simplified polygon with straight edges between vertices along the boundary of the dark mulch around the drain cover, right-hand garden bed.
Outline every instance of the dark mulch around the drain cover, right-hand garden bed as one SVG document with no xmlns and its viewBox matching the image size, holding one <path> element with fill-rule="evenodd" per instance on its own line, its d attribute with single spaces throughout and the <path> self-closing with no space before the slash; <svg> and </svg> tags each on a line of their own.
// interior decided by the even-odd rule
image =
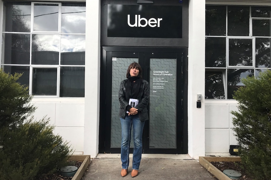
<svg viewBox="0 0 271 180">
<path fill-rule="evenodd" d="M 232 169 L 239 171 L 242 174 L 242 177 L 239 180 L 253 180 L 252 177 L 246 174 L 246 172 L 241 169 L 241 162 L 210 162 L 214 167 L 218 168 L 221 172 L 225 169 Z"/>
</svg>

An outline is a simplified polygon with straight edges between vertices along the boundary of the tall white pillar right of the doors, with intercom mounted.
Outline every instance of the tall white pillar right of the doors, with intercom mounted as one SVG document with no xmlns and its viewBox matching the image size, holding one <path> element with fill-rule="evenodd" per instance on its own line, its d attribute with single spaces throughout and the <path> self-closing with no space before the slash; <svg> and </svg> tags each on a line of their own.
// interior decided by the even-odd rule
<svg viewBox="0 0 271 180">
<path fill-rule="evenodd" d="M 205 100 L 196 108 L 197 94 L 205 91 L 205 1 L 189 1 L 188 45 L 188 154 L 205 156 Z"/>
</svg>

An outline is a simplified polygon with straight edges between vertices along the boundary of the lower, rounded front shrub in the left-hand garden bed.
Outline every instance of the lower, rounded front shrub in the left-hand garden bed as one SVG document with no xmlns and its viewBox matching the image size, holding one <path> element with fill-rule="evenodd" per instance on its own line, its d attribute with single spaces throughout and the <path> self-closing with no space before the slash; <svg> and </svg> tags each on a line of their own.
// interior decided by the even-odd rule
<svg viewBox="0 0 271 180">
<path fill-rule="evenodd" d="M 48 119 L 31 119 L 9 130 L 0 150 L 0 179 L 30 180 L 66 166 L 71 151 L 53 129 Z"/>
</svg>

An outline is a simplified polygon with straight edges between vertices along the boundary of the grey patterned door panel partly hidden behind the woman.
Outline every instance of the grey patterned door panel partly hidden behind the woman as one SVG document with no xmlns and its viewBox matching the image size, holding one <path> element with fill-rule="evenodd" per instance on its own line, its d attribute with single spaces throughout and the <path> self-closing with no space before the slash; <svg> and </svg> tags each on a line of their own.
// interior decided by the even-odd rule
<svg viewBox="0 0 271 180">
<path fill-rule="evenodd" d="M 138 62 L 138 58 L 112 57 L 112 111 L 111 111 L 111 144 L 110 147 L 119 148 L 121 145 L 121 125 L 119 119 L 119 85 L 126 78 L 128 66 Z M 133 137 L 131 147 L 134 147 Z"/>
</svg>

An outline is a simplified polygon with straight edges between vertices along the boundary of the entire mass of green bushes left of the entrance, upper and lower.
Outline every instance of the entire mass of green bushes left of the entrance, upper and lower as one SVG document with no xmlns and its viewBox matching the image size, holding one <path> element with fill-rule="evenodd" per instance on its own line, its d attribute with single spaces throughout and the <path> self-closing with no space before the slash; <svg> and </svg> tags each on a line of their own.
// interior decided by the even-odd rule
<svg viewBox="0 0 271 180">
<path fill-rule="evenodd" d="M 36 109 L 32 96 L 0 69 L 0 179 L 32 180 L 66 166 L 72 150 L 62 137 L 54 135 L 49 119 L 28 118 Z M 3 105 L 3 104 L 4 105 Z"/>
</svg>

